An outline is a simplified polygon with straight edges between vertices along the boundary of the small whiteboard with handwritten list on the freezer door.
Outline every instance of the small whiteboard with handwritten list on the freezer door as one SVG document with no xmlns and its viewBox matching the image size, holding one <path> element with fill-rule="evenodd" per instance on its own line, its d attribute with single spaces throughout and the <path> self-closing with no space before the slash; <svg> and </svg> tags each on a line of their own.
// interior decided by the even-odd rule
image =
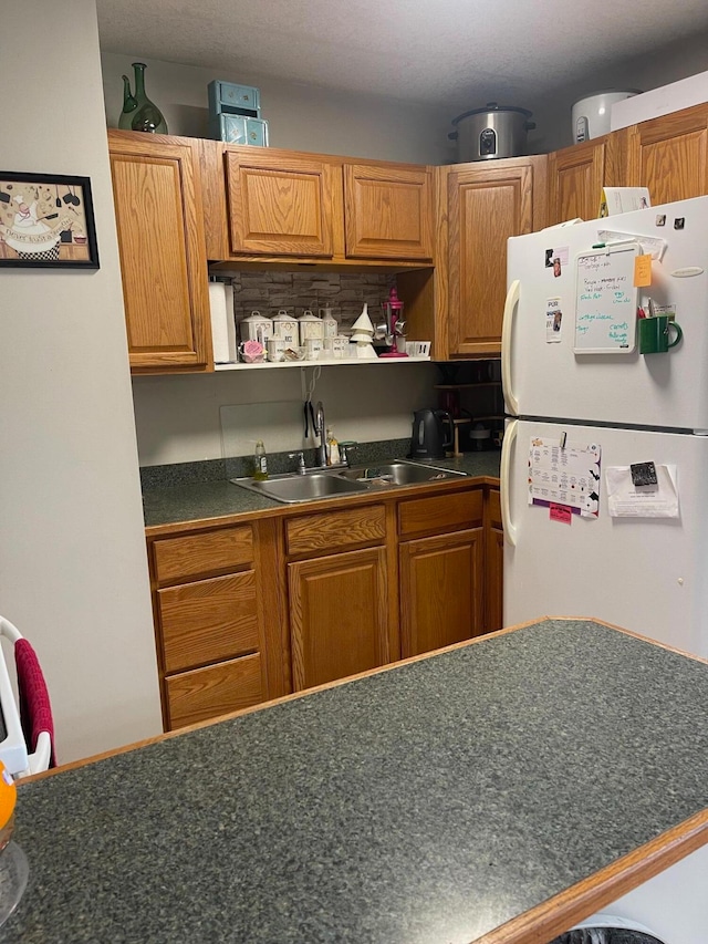
<svg viewBox="0 0 708 944">
<path fill-rule="evenodd" d="M 577 257 L 575 353 L 631 353 L 636 344 L 636 243 Z"/>
</svg>

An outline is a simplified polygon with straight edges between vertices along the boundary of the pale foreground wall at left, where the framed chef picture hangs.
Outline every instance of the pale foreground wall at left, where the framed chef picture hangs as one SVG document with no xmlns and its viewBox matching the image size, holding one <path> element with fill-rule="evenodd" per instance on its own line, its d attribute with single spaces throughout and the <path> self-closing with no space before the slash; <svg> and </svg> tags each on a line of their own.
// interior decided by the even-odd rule
<svg viewBox="0 0 708 944">
<path fill-rule="evenodd" d="M 0 87 L 0 166 L 90 177 L 101 258 L 0 270 L 0 612 L 69 761 L 162 729 L 94 0 L 3 0 Z"/>
</svg>

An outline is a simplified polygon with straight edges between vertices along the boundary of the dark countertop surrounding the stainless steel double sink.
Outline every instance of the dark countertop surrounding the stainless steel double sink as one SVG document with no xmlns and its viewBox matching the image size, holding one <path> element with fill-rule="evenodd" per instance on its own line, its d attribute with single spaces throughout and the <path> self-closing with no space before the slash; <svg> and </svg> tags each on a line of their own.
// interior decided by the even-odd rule
<svg viewBox="0 0 708 944">
<path fill-rule="evenodd" d="M 396 453 L 395 456 L 400 456 Z M 393 458 L 393 457 L 392 457 Z M 459 459 L 436 459 L 439 468 L 454 468 L 472 477 L 499 477 L 500 453 L 466 453 Z M 383 461 L 379 458 L 378 461 Z M 400 491 L 399 488 L 395 489 Z M 376 495 L 381 495 L 377 491 Z M 325 502 L 320 502 L 323 507 Z M 271 498 L 247 491 L 228 479 L 201 481 L 190 485 L 163 485 L 144 488 L 143 510 L 145 526 L 173 525 L 180 521 L 197 521 L 206 518 L 241 515 L 249 511 L 281 511 L 288 506 Z"/>
</svg>

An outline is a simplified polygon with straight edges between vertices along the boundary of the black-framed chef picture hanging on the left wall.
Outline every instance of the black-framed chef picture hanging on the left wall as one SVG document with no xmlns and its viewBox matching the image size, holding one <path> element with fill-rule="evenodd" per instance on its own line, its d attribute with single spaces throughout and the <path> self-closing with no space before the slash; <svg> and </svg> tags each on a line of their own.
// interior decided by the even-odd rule
<svg viewBox="0 0 708 944">
<path fill-rule="evenodd" d="M 0 269 L 97 269 L 88 177 L 0 170 Z"/>
</svg>

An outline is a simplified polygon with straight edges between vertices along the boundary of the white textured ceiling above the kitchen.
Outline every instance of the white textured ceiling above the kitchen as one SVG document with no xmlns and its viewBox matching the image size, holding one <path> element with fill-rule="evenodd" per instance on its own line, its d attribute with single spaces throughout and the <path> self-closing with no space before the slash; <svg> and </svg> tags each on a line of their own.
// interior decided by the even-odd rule
<svg viewBox="0 0 708 944">
<path fill-rule="evenodd" d="M 708 30 L 706 0 L 97 0 L 101 48 L 431 104 L 518 104 Z"/>
</svg>

